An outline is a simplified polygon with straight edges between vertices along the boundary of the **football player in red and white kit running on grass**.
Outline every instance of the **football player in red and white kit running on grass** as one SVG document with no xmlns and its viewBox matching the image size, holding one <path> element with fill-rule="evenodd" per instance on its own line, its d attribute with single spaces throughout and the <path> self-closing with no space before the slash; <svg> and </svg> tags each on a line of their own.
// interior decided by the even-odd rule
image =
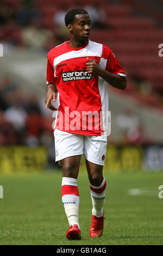
<svg viewBox="0 0 163 256">
<path fill-rule="evenodd" d="M 89 40 L 91 20 L 87 11 L 68 11 L 65 24 L 70 38 L 48 52 L 46 108 L 57 113 L 55 160 L 62 166 L 62 203 L 70 224 L 66 236 L 79 240 L 80 156 L 85 156 L 90 181 L 90 237 L 99 237 L 104 228 L 106 192 L 103 166 L 107 144 L 105 113 L 109 110 L 107 84 L 123 90 L 127 82 L 125 71 L 110 48 Z"/>
</svg>

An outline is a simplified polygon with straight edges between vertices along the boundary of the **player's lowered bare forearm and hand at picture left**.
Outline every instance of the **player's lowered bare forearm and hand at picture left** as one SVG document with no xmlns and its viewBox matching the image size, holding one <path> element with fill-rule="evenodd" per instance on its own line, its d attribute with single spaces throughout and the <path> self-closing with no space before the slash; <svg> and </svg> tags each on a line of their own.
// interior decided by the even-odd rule
<svg viewBox="0 0 163 256">
<path fill-rule="evenodd" d="M 57 107 L 54 107 L 54 105 L 51 102 L 52 100 L 56 101 L 57 92 L 58 91 L 57 91 L 57 87 L 55 84 L 52 84 L 52 83 L 47 84 L 45 103 L 46 103 L 46 108 L 49 108 L 52 111 L 56 111 L 58 109 Z"/>
</svg>

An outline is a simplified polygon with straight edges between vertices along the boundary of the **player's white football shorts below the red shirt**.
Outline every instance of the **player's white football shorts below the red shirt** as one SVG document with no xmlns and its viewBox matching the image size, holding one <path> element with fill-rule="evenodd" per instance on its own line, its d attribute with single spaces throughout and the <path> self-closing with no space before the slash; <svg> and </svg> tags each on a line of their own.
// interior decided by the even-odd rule
<svg viewBox="0 0 163 256">
<path fill-rule="evenodd" d="M 56 162 L 69 156 L 84 154 L 88 161 L 104 166 L 107 145 L 106 135 L 78 135 L 56 129 L 54 131 L 54 142 Z"/>
</svg>

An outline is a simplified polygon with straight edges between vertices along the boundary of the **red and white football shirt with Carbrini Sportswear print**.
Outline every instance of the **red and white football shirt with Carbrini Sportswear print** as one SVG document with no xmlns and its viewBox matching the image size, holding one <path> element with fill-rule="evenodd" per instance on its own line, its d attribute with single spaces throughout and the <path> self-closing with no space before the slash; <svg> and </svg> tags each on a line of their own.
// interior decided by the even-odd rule
<svg viewBox="0 0 163 256">
<path fill-rule="evenodd" d="M 55 127 L 61 131 L 99 136 L 109 111 L 107 82 L 87 74 L 87 57 L 112 74 L 126 76 L 109 47 L 91 40 L 79 48 L 68 39 L 48 52 L 47 84 L 56 84 L 58 111 Z"/>
</svg>

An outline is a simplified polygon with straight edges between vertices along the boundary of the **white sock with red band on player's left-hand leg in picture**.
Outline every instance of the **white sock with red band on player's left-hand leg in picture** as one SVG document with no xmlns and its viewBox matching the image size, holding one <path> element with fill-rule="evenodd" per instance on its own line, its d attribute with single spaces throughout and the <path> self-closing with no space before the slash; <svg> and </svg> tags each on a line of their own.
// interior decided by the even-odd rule
<svg viewBox="0 0 163 256">
<path fill-rule="evenodd" d="M 64 204 L 65 213 L 70 225 L 77 224 L 79 227 L 79 192 L 77 180 L 73 178 L 62 178 L 62 203 Z"/>
</svg>

